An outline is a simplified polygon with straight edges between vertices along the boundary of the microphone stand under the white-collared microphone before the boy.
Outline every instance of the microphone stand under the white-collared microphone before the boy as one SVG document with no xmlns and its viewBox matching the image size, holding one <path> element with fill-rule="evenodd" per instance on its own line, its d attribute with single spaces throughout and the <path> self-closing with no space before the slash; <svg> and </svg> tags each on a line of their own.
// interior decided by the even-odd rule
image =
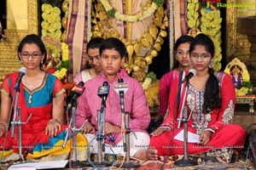
<svg viewBox="0 0 256 170">
<path fill-rule="evenodd" d="M 123 167 L 123 168 L 134 168 L 134 167 L 140 167 L 139 163 L 136 162 L 130 162 L 130 123 L 129 123 L 129 112 L 125 111 L 125 102 L 124 102 L 124 91 L 119 91 L 120 96 L 120 106 L 121 106 L 121 112 L 122 112 L 122 135 L 123 135 L 123 144 L 124 144 L 124 151 L 125 151 L 125 162 L 123 164 L 116 164 L 116 167 Z M 134 133 L 135 135 L 135 133 Z"/>
</svg>

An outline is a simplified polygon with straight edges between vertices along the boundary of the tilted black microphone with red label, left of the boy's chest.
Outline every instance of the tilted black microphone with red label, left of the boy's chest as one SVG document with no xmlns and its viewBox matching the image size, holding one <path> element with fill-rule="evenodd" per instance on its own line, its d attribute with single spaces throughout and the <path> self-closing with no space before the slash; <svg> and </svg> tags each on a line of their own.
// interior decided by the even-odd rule
<svg viewBox="0 0 256 170">
<path fill-rule="evenodd" d="M 67 111 L 71 109 L 73 106 L 74 101 L 76 101 L 81 94 L 84 93 L 84 82 L 79 82 L 79 85 L 73 85 L 73 88 L 71 89 L 72 98 L 67 105 Z"/>
</svg>

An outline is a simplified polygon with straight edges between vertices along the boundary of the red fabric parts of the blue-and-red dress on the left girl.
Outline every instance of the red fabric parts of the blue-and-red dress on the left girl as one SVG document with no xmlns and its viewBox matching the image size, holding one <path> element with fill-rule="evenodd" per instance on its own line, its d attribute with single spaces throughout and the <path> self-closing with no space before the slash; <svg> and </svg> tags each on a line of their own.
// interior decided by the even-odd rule
<svg viewBox="0 0 256 170">
<path fill-rule="evenodd" d="M 18 77 L 18 73 L 10 74 L 9 75 L 12 82 L 12 88 L 11 88 L 11 94 L 14 93 L 14 85 L 15 80 Z M 10 92 L 7 88 L 7 84 L 3 82 L 3 88 Z M 60 87 L 58 87 L 60 88 Z M 61 89 L 61 88 L 60 88 Z M 56 89 L 54 90 L 54 93 Z M 14 98 L 14 96 L 12 96 Z M 32 117 L 30 118 L 29 122 L 22 125 L 22 148 L 23 150 L 32 150 L 33 146 L 38 143 L 47 143 L 49 142 L 49 135 L 45 135 L 45 127 L 47 126 L 47 123 L 52 118 L 52 103 L 49 105 L 44 105 L 41 107 L 34 107 L 29 108 L 26 107 L 26 100 L 25 100 L 25 94 L 24 94 L 24 88 L 22 83 L 20 83 L 20 94 L 19 94 L 19 101 L 17 104 L 18 107 L 20 107 L 20 113 L 21 113 L 21 122 L 26 122 L 27 117 L 32 113 Z M 11 122 L 13 121 L 13 118 L 11 118 Z M 66 126 L 61 126 L 61 131 L 65 130 Z M 15 126 L 15 137 L 11 138 L 11 124 L 9 125 L 9 132 L 8 137 L 5 142 L 5 150 L 7 149 L 14 149 L 15 152 L 18 152 L 18 126 Z M 61 133 L 61 131 L 59 133 Z M 3 145 L 5 135 L 0 138 L 0 144 Z"/>
</svg>

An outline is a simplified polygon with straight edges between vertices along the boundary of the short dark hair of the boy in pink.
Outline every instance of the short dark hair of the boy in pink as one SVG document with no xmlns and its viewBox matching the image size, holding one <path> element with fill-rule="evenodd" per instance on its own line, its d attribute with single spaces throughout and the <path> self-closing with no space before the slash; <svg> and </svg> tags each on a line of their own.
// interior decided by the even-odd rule
<svg viewBox="0 0 256 170">
<path fill-rule="evenodd" d="M 104 49 L 115 49 L 119 52 L 121 58 L 127 55 L 125 44 L 115 37 L 109 37 L 103 40 L 102 45 L 100 47 L 100 55 L 102 55 L 102 51 Z"/>
</svg>

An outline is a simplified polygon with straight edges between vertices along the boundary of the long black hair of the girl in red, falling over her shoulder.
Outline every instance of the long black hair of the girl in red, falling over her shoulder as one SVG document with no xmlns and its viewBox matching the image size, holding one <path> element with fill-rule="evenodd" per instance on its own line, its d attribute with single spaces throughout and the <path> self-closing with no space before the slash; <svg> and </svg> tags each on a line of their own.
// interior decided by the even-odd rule
<svg viewBox="0 0 256 170">
<path fill-rule="evenodd" d="M 214 44 L 210 37 L 207 37 L 205 34 L 199 34 L 195 37 L 195 39 L 191 42 L 189 53 L 191 53 L 196 45 L 202 45 L 206 48 L 207 52 L 211 54 L 211 59 L 214 56 Z M 206 83 L 206 89 L 204 94 L 204 104 L 202 106 L 202 110 L 204 113 L 207 113 L 212 109 L 219 109 L 221 105 L 221 98 L 219 94 L 218 87 L 218 78 L 215 77 L 214 71 L 212 68 L 208 70 L 210 77 Z"/>
</svg>

